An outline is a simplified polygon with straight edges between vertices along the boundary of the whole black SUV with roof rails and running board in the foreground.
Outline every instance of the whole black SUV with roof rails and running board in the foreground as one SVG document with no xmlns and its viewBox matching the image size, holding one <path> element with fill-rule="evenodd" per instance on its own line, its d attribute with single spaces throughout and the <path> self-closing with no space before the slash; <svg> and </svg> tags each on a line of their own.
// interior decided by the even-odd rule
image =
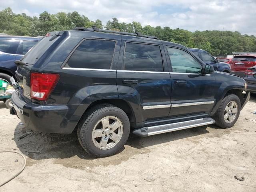
<svg viewBox="0 0 256 192">
<path fill-rule="evenodd" d="M 22 86 L 11 112 L 40 132 L 77 128 L 81 146 L 96 157 L 118 152 L 130 130 L 144 137 L 214 123 L 232 127 L 250 97 L 244 79 L 140 33 L 51 32 L 16 64 Z"/>
</svg>

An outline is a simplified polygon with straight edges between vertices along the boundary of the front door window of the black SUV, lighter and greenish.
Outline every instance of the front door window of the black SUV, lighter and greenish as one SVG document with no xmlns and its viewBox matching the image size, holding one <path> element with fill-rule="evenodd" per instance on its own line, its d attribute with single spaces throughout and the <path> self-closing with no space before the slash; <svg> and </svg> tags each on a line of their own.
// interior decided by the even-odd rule
<svg viewBox="0 0 256 192">
<path fill-rule="evenodd" d="M 201 64 L 188 52 L 176 49 L 167 48 L 168 54 L 172 64 L 172 72 L 177 73 L 201 73 Z"/>
</svg>

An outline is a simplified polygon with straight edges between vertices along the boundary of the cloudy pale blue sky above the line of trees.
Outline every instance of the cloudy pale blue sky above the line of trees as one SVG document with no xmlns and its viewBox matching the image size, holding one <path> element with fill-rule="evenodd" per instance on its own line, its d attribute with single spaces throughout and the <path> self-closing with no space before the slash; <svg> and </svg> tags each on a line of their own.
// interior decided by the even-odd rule
<svg viewBox="0 0 256 192">
<path fill-rule="evenodd" d="M 39 16 L 44 10 L 78 11 L 103 24 L 113 17 L 142 26 L 196 30 L 231 30 L 256 35 L 256 0 L 0 0 L 0 9 Z"/>
</svg>

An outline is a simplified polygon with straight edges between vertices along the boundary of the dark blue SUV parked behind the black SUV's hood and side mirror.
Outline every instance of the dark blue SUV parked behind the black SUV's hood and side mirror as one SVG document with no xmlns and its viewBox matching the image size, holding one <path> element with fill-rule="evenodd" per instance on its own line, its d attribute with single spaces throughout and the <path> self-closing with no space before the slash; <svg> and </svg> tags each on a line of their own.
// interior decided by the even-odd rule
<svg viewBox="0 0 256 192">
<path fill-rule="evenodd" d="M 214 70 L 230 73 L 230 65 L 224 62 L 219 62 L 218 59 L 214 58 L 210 53 L 202 49 L 197 48 L 188 48 L 192 53 L 194 53 L 198 58 L 200 58 L 205 64 L 211 64 L 214 67 Z M 218 68 L 218 70 L 217 70 Z"/>
</svg>

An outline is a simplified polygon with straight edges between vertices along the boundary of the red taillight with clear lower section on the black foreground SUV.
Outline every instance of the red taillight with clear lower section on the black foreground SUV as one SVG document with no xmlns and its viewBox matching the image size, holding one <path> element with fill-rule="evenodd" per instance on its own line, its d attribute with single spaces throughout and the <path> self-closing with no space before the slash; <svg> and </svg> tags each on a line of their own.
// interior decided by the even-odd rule
<svg viewBox="0 0 256 192">
<path fill-rule="evenodd" d="M 30 95 L 32 99 L 44 101 L 52 92 L 60 78 L 59 74 L 31 73 L 30 74 Z"/>
</svg>

